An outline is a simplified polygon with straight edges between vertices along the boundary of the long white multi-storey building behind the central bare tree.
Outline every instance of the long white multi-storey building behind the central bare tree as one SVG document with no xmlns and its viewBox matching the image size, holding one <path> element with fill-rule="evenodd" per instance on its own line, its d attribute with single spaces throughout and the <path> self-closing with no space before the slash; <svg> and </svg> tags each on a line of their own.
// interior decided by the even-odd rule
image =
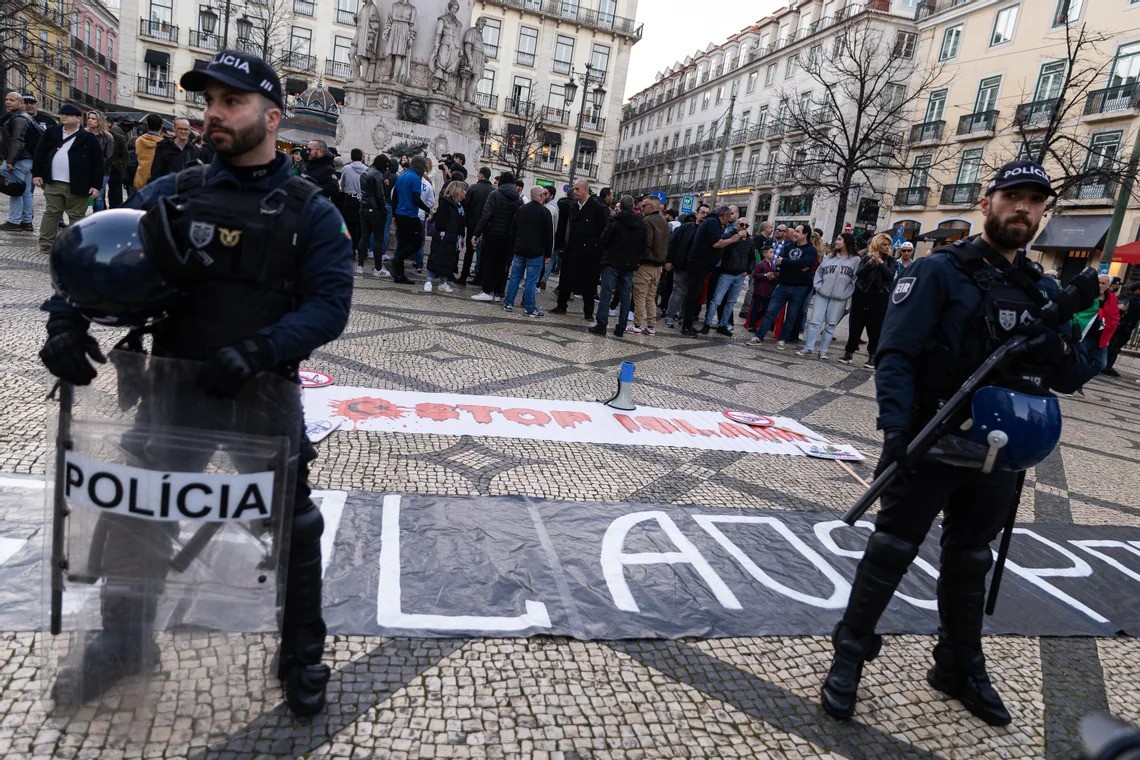
<svg viewBox="0 0 1140 760">
<path fill-rule="evenodd" d="M 614 188 L 662 191 L 674 207 L 684 194 L 707 201 L 723 158 L 718 203 L 738 205 L 757 224 L 771 219 L 830 229 L 836 199 L 797 186 L 789 169 L 812 149 L 787 130 L 781 111 L 790 93 L 809 97 L 815 84 L 799 71 L 798 56 L 822 55 L 839 31 L 864 18 L 913 54 L 915 6 L 917 0 L 792 0 L 665 68 L 622 111 Z M 856 230 L 876 223 L 878 201 L 852 198 L 845 221 Z"/>
</svg>

